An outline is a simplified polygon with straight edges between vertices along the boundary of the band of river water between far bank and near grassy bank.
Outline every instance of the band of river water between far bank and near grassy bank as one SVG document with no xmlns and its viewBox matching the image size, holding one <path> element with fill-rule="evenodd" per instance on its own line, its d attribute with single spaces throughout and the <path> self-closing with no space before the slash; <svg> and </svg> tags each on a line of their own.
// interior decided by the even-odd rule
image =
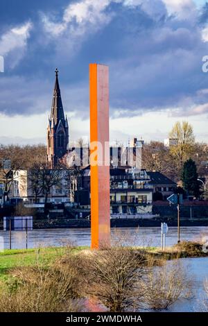
<svg viewBox="0 0 208 326">
<path fill-rule="evenodd" d="M 124 237 L 135 246 L 161 246 L 160 228 L 112 228 L 112 241 Z M 4 248 L 9 248 L 9 232 L 0 231 Z M 181 240 L 208 239 L 208 227 L 182 227 Z M 66 242 L 90 246 L 90 229 L 43 229 L 28 232 L 28 248 L 63 246 Z M 166 246 L 177 243 L 177 228 L 168 229 Z M 26 248 L 26 232 L 12 231 L 12 248 Z"/>
</svg>

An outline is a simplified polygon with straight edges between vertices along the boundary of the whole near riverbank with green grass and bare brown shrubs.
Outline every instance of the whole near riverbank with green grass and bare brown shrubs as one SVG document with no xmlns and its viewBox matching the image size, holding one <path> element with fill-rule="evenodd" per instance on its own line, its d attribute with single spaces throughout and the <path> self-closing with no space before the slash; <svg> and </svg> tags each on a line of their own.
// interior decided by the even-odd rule
<svg viewBox="0 0 208 326">
<path fill-rule="evenodd" d="M 178 258 L 205 256 L 196 242 L 163 252 L 123 242 L 105 250 L 73 245 L 5 250 L 0 253 L 0 311 L 168 309 L 191 298 L 191 276 Z"/>
</svg>

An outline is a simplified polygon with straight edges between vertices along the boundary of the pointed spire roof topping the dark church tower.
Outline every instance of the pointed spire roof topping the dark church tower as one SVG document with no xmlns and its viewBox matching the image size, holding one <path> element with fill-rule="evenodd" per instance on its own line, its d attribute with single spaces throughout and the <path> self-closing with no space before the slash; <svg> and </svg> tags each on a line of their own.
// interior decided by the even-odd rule
<svg viewBox="0 0 208 326">
<path fill-rule="evenodd" d="M 58 83 L 58 69 L 55 69 L 55 86 L 53 90 L 53 101 L 51 107 L 51 121 L 54 120 L 55 126 L 57 126 L 58 122 L 62 120 L 64 123 L 64 110 L 62 105 L 62 98 L 60 94 L 60 87 Z"/>
</svg>

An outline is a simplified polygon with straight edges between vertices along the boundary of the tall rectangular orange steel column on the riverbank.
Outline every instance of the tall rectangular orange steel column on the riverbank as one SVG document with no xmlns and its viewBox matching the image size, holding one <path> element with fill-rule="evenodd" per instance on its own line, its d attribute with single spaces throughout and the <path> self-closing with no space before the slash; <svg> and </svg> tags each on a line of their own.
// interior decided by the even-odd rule
<svg viewBox="0 0 208 326">
<path fill-rule="evenodd" d="M 89 65 L 89 101 L 91 248 L 99 249 L 110 246 L 109 82 L 105 65 Z"/>
</svg>

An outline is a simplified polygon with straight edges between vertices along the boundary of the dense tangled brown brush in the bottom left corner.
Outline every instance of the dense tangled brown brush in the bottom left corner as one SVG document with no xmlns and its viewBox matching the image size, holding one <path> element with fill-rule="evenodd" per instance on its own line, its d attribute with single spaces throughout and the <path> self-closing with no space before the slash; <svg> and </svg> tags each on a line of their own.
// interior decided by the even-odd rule
<svg viewBox="0 0 208 326">
<path fill-rule="evenodd" d="M 7 288 L 1 287 L 0 311 L 53 312 L 80 311 L 80 277 L 76 257 L 67 256 L 67 264 L 52 266 L 41 262 L 33 267 L 16 268 Z"/>
</svg>

